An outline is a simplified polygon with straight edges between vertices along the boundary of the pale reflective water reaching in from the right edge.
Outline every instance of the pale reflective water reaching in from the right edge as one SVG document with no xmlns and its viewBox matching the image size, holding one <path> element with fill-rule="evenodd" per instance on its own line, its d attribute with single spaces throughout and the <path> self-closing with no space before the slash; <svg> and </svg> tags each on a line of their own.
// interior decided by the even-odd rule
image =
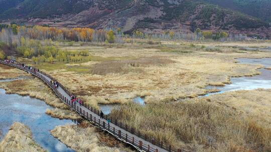
<svg viewBox="0 0 271 152">
<path fill-rule="evenodd" d="M 261 64 L 264 67 L 271 66 L 271 58 L 239 58 L 237 59 L 240 64 Z M 212 94 L 220 94 L 226 91 L 236 90 L 252 90 L 257 88 L 271 88 L 271 70 L 264 68 L 259 69 L 261 74 L 254 76 L 232 77 L 231 84 L 225 86 L 207 86 L 206 89 L 219 89 L 219 92 L 208 93 L 204 96 Z"/>
</svg>

